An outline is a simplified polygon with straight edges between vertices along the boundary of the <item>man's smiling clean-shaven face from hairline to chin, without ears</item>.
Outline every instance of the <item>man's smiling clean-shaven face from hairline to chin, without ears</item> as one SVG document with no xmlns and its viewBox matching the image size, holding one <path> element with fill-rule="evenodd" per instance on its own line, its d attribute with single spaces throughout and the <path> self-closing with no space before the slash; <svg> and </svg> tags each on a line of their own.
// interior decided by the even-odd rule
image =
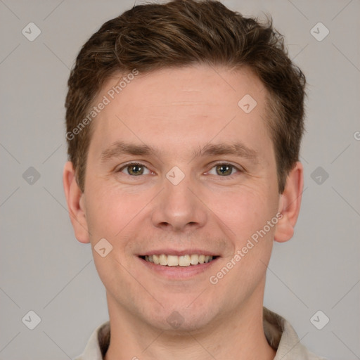
<svg viewBox="0 0 360 360">
<path fill-rule="evenodd" d="M 137 75 L 112 99 L 114 77 L 91 124 L 80 205 L 109 309 L 160 329 L 262 304 L 281 203 L 266 90 L 248 70 L 215 70 Z"/>
</svg>

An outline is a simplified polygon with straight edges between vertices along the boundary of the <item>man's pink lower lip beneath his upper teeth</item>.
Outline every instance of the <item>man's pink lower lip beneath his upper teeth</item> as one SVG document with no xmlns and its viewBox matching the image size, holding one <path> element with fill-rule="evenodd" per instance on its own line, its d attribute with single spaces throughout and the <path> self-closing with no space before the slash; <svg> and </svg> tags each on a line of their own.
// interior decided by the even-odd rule
<svg viewBox="0 0 360 360">
<path fill-rule="evenodd" d="M 203 274 L 207 269 L 217 262 L 219 257 L 213 259 L 211 262 L 207 262 L 204 264 L 198 265 L 190 265 L 190 266 L 164 266 L 164 265 L 157 265 L 153 262 L 147 262 L 141 257 L 138 258 L 145 266 L 148 266 L 148 269 L 151 271 L 155 271 L 155 273 L 165 276 L 165 278 L 169 279 L 186 279 L 192 278 L 196 275 Z"/>
</svg>

